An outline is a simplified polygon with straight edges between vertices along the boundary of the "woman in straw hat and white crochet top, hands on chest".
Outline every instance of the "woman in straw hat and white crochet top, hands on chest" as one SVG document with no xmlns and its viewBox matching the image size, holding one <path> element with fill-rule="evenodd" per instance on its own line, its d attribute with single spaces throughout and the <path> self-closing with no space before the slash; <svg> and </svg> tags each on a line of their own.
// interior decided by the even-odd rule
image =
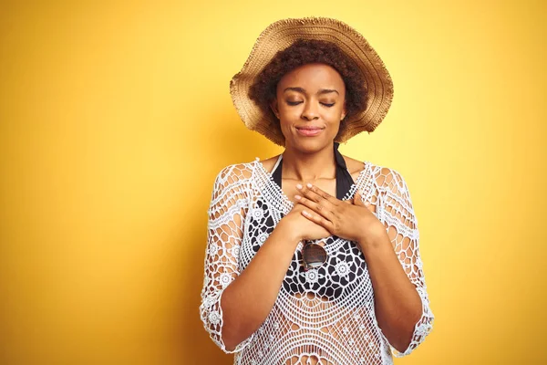
<svg viewBox="0 0 547 365">
<path fill-rule="evenodd" d="M 376 52 L 335 19 L 259 36 L 232 100 L 284 152 L 233 164 L 209 209 L 201 319 L 236 364 L 390 364 L 432 328 L 418 227 L 395 170 L 342 156 L 393 88 Z"/>
</svg>

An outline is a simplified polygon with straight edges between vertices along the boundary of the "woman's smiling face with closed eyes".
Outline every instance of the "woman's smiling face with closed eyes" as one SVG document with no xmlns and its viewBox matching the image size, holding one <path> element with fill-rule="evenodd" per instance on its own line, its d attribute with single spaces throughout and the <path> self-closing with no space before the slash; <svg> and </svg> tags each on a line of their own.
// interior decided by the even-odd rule
<svg viewBox="0 0 547 365">
<path fill-rule="evenodd" d="M 271 104 L 285 148 L 313 152 L 332 145 L 346 116 L 345 100 L 346 86 L 335 68 L 313 63 L 286 73 Z"/>
</svg>

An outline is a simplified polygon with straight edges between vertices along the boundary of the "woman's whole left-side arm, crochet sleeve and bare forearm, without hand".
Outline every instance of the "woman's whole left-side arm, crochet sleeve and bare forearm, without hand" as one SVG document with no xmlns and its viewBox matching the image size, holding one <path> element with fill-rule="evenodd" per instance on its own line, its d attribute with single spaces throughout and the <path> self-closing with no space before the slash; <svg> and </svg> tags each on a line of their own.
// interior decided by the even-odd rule
<svg viewBox="0 0 547 365">
<path fill-rule="evenodd" d="M 239 272 L 238 252 L 248 205 L 242 172 L 219 173 L 209 209 L 201 320 L 226 353 L 241 351 L 274 307 L 299 239 L 288 235 L 283 220 Z"/>
</svg>

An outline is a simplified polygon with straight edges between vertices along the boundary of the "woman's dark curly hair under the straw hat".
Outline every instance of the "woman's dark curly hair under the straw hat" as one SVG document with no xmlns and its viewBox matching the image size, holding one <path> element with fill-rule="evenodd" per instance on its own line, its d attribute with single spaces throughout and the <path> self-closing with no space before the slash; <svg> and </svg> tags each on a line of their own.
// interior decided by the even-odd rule
<svg viewBox="0 0 547 365">
<path fill-rule="evenodd" d="M 275 119 L 270 103 L 275 99 L 277 84 L 286 73 L 308 63 L 322 63 L 335 68 L 344 80 L 346 117 L 340 124 L 340 135 L 345 129 L 345 121 L 366 109 L 368 98 L 363 74 L 356 63 L 334 43 L 318 39 L 295 40 L 291 46 L 277 52 L 254 79 L 249 89 L 249 98 L 263 110 L 263 113 Z"/>
</svg>

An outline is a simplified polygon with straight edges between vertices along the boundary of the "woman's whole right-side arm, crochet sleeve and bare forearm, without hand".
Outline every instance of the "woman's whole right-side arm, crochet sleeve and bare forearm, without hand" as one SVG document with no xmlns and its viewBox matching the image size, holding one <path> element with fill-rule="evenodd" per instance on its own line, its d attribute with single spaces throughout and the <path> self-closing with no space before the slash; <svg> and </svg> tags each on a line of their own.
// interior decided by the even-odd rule
<svg viewBox="0 0 547 365">
<path fill-rule="evenodd" d="M 418 250 L 418 220 L 407 184 L 396 171 L 382 169 L 377 177 L 383 199 L 377 215 L 382 233 L 359 242 L 375 291 L 379 328 L 396 357 L 416 349 L 433 325 Z"/>
</svg>

